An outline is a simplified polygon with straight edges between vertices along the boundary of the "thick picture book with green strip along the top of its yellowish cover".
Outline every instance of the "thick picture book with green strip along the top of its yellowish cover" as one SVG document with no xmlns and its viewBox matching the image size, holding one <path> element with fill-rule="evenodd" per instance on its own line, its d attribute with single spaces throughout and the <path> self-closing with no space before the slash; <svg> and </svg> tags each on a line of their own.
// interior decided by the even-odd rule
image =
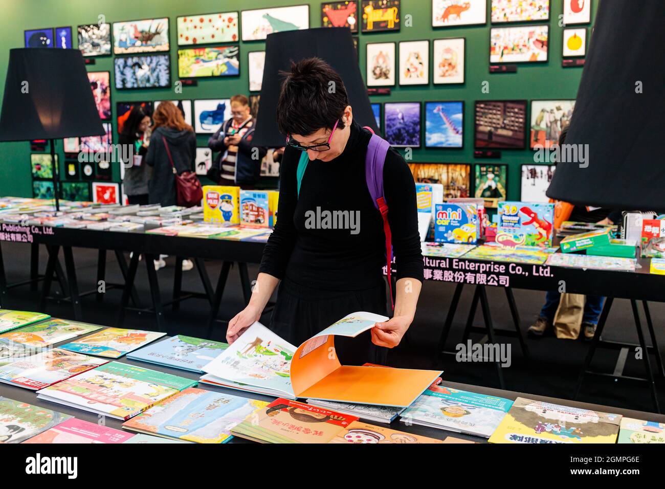
<svg viewBox="0 0 665 489">
<path fill-rule="evenodd" d="M 196 384 L 184 377 L 110 362 L 37 391 L 37 398 L 128 420 Z"/>
</svg>

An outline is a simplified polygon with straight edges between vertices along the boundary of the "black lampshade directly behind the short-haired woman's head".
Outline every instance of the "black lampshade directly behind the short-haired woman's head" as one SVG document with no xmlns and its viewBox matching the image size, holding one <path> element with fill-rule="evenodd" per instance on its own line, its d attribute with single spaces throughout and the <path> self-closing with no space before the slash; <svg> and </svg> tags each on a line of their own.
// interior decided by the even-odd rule
<svg viewBox="0 0 665 489">
<path fill-rule="evenodd" d="M 339 73 L 346 86 L 353 117 L 361 126 L 370 126 L 378 132 L 374 112 L 362 81 L 358 56 L 350 29 L 346 27 L 320 27 L 271 34 L 265 43 L 265 65 L 261 101 L 257 116 L 253 144 L 275 148 L 284 146 L 286 134 L 277 128 L 277 99 L 283 77 L 280 70 L 288 71 L 291 61 L 319 57 Z"/>
</svg>

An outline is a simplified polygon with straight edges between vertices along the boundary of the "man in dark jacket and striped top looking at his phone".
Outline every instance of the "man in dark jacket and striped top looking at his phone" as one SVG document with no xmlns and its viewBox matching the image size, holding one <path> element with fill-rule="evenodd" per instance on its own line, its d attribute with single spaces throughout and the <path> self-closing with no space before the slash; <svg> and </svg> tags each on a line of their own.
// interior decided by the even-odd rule
<svg viewBox="0 0 665 489">
<path fill-rule="evenodd" d="M 259 181 L 265 148 L 251 144 L 256 119 L 251 116 L 245 95 L 231 97 L 231 118 L 208 139 L 208 148 L 219 155 L 208 178 L 219 185 L 241 185 L 251 189 Z"/>
</svg>

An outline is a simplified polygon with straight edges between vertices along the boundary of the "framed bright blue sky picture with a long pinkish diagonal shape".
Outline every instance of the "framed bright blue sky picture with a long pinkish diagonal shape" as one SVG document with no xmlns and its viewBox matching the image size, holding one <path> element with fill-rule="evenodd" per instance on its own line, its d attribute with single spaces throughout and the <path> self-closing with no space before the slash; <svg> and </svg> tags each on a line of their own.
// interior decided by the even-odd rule
<svg viewBox="0 0 665 489">
<path fill-rule="evenodd" d="M 425 102 L 425 147 L 462 148 L 464 102 Z"/>
</svg>

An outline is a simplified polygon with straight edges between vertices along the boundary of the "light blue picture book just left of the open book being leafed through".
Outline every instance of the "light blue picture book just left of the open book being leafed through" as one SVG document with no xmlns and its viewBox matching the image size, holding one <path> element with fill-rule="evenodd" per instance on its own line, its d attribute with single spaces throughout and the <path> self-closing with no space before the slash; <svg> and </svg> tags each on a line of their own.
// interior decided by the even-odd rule
<svg viewBox="0 0 665 489">
<path fill-rule="evenodd" d="M 221 341 L 177 335 L 128 353 L 127 358 L 203 373 L 203 367 L 227 347 Z"/>
</svg>

